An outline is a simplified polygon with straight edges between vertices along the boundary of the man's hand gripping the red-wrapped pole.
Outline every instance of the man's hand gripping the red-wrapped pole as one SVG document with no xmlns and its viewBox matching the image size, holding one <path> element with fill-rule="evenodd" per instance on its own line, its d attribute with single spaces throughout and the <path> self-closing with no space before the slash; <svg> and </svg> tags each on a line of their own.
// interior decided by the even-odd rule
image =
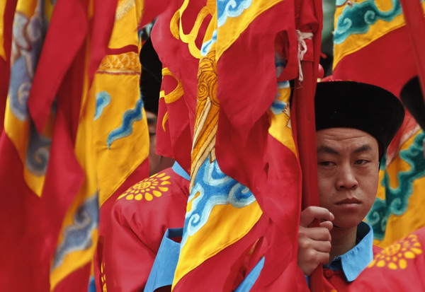
<svg viewBox="0 0 425 292">
<path fill-rule="evenodd" d="M 324 220 L 320 227 L 309 227 L 314 219 Z M 310 276 L 319 264 L 329 262 L 334 214 L 318 206 L 309 206 L 301 212 L 298 230 L 298 267 Z"/>
</svg>

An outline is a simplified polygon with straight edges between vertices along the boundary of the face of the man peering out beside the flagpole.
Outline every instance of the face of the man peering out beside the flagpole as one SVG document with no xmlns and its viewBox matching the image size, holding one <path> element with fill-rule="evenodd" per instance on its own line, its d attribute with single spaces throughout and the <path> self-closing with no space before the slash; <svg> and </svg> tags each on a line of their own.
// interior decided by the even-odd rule
<svg viewBox="0 0 425 292">
<path fill-rule="evenodd" d="M 378 189 L 378 142 L 361 130 L 330 128 L 316 132 L 320 206 L 339 228 L 357 226 Z"/>
</svg>

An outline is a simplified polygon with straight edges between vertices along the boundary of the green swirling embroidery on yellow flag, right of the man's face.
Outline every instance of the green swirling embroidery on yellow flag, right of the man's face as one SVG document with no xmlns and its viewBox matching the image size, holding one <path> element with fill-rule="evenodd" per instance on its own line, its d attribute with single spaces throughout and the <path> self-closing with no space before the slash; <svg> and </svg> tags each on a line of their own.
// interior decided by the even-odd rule
<svg viewBox="0 0 425 292">
<path fill-rule="evenodd" d="M 410 169 L 397 173 L 399 185 L 396 189 L 390 186 L 390 176 L 385 172 L 381 181 L 385 187 L 385 200 L 377 198 L 366 216 L 368 223 L 373 226 L 375 239 L 384 238 L 390 215 L 400 216 L 407 211 L 414 181 L 425 176 L 424 141 L 425 133 L 421 132 L 409 148 L 400 151 L 399 157 L 410 165 Z"/>
</svg>

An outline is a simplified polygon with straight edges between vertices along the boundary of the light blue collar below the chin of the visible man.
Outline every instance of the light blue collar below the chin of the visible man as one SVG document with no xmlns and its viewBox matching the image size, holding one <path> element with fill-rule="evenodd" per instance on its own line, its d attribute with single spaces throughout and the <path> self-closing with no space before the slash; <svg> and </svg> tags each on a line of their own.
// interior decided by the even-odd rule
<svg viewBox="0 0 425 292">
<path fill-rule="evenodd" d="M 335 257 L 325 268 L 333 271 L 343 271 L 348 282 L 356 280 L 358 275 L 368 267 L 373 260 L 373 230 L 365 222 L 357 226 L 357 238 L 360 242 L 344 255 Z"/>
</svg>

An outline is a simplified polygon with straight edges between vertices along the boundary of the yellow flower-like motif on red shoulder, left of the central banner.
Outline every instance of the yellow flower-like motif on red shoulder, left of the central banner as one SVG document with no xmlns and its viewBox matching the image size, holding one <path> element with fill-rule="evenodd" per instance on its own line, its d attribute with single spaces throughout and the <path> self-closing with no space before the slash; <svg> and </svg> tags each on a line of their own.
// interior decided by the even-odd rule
<svg viewBox="0 0 425 292">
<path fill-rule="evenodd" d="M 169 190 L 168 186 L 171 185 L 169 179 L 170 177 L 166 173 L 156 173 L 141 182 L 137 182 L 136 185 L 121 194 L 118 199 L 125 198 L 128 201 L 145 199 L 152 201 L 154 197 L 161 197 L 164 192 Z"/>
</svg>

